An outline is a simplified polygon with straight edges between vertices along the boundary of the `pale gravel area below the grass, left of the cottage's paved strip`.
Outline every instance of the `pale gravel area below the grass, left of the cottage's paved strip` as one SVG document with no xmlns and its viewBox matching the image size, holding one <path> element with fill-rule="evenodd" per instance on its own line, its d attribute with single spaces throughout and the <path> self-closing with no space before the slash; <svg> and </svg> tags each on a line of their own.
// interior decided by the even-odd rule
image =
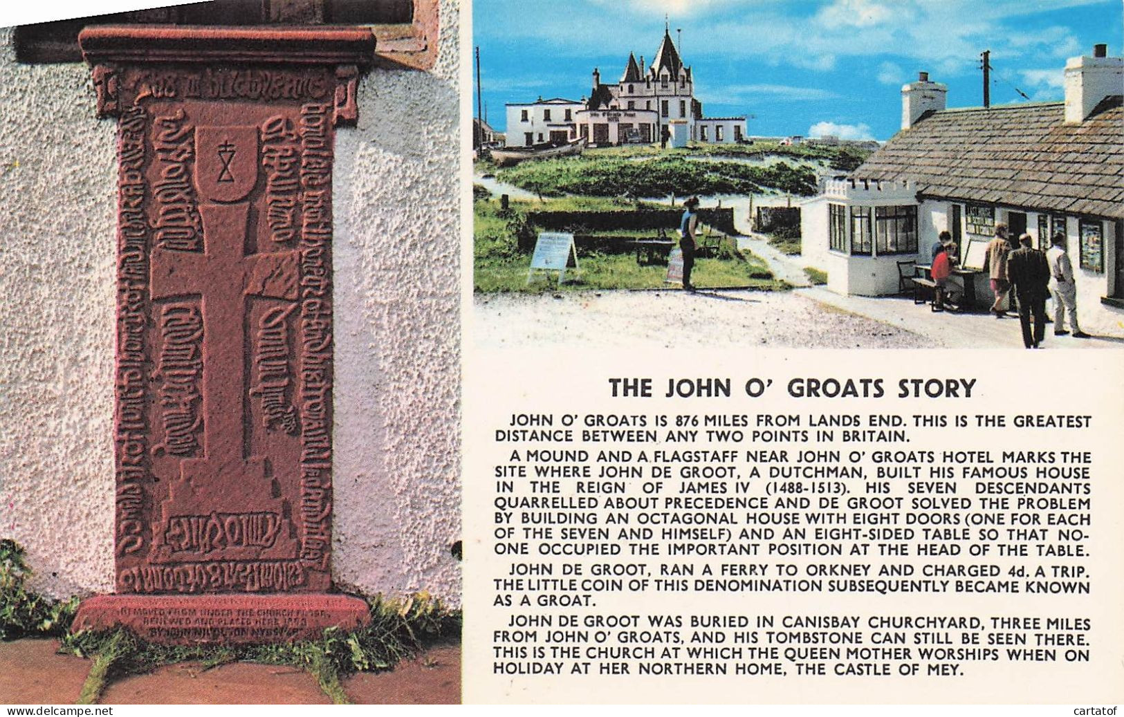
<svg viewBox="0 0 1124 717">
<path fill-rule="evenodd" d="M 477 294 L 480 346 L 916 348 L 918 334 L 792 292 L 563 291 Z"/>
</svg>

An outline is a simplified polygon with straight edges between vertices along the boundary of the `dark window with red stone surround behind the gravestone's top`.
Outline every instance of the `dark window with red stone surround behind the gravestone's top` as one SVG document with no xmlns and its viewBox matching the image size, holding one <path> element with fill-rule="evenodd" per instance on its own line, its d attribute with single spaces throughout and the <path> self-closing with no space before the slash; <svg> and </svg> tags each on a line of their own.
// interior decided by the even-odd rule
<svg viewBox="0 0 1124 717">
<path fill-rule="evenodd" d="M 78 34 L 89 25 L 369 26 L 379 64 L 428 70 L 437 57 L 439 0 L 214 0 L 16 28 L 16 60 L 82 62 Z"/>
</svg>

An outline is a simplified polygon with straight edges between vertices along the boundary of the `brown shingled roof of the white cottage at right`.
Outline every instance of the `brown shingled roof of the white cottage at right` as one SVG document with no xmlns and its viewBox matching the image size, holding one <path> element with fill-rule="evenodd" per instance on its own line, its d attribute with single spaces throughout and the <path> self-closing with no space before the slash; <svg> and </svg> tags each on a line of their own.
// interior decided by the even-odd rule
<svg viewBox="0 0 1124 717">
<path fill-rule="evenodd" d="M 934 112 L 856 169 L 909 180 L 923 197 L 1124 219 L 1124 108 L 1107 98 L 1080 125 L 1063 102 Z"/>
</svg>

